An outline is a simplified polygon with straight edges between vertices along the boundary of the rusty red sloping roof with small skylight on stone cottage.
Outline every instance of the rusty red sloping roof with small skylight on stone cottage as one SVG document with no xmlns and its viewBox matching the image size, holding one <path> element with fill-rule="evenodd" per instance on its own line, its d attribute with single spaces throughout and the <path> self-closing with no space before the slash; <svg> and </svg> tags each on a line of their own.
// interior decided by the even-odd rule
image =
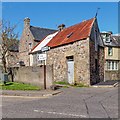
<svg viewBox="0 0 120 120">
<path fill-rule="evenodd" d="M 49 47 L 57 47 L 78 40 L 86 39 L 90 36 L 91 28 L 95 18 L 83 21 L 79 24 L 65 28 L 60 31 L 48 44 Z"/>
</svg>

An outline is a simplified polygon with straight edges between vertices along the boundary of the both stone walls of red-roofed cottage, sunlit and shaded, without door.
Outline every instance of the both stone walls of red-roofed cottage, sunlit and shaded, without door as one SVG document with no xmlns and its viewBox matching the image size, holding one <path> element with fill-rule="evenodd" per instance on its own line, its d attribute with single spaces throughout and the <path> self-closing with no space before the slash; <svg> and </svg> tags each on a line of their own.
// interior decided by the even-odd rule
<svg viewBox="0 0 120 120">
<path fill-rule="evenodd" d="M 53 64 L 54 81 L 68 82 L 68 56 L 74 57 L 74 82 L 92 85 L 104 80 L 104 48 L 98 46 L 95 51 L 94 41 L 87 39 L 47 52 L 47 65 Z"/>
</svg>

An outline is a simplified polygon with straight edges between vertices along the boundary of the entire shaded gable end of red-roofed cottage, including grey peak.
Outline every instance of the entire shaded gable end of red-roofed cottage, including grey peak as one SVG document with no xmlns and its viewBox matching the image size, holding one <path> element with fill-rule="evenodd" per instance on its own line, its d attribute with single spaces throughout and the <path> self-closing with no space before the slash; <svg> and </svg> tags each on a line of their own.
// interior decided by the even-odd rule
<svg viewBox="0 0 120 120">
<path fill-rule="evenodd" d="M 90 84 L 104 80 L 104 45 L 97 21 L 94 22 L 90 35 Z"/>
</svg>

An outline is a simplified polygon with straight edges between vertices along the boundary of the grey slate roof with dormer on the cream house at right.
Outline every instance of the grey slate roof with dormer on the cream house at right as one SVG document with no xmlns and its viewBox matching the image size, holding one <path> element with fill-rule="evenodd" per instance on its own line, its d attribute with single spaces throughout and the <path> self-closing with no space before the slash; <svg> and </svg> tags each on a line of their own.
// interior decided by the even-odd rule
<svg viewBox="0 0 120 120">
<path fill-rule="evenodd" d="M 120 47 L 120 35 L 112 35 L 110 37 L 110 42 L 105 42 L 105 46 Z"/>
</svg>

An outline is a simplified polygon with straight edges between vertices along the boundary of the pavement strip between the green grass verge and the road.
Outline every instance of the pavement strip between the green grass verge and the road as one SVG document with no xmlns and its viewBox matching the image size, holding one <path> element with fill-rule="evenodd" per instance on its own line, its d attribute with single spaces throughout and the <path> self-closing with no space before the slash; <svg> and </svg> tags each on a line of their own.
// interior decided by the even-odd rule
<svg viewBox="0 0 120 120">
<path fill-rule="evenodd" d="M 2 96 L 23 96 L 23 97 L 44 97 L 53 96 L 61 93 L 61 90 L 40 90 L 40 91 L 20 91 L 20 90 L 2 90 Z"/>
</svg>

